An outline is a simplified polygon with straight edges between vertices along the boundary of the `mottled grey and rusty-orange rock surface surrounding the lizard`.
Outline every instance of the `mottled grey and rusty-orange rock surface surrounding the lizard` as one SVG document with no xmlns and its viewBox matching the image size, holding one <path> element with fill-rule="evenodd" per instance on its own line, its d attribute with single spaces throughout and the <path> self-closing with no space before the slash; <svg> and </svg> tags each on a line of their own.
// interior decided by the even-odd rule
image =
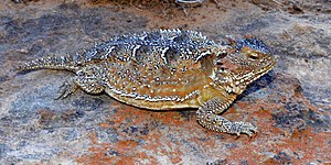
<svg viewBox="0 0 331 165">
<path fill-rule="evenodd" d="M 184 10 L 183 10 L 184 8 Z M 183 12 L 186 12 L 185 13 Z M 74 54 L 113 35 L 156 29 L 256 35 L 277 56 L 223 116 L 258 127 L 250 140 L 207 131 L 195 111 L 153 112 L 106 95 L 54 100 L 71 75 L 18 64 Z M 331 2 L 30 1 L 0 4 L 0 164 L 331 163 Z M 328 155 L 329 154 L 329 155 Z"/>
</svg>

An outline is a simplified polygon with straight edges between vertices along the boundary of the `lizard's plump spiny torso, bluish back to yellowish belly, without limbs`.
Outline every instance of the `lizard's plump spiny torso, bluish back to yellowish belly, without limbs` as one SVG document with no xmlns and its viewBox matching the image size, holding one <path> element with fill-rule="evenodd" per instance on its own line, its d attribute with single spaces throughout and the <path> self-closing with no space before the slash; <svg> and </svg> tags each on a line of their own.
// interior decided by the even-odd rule
<svg viewBox="0 0 331 165">
<path fill-rule="evenodd" d="M 105 91 L 140 108 L 197 108 L 210 84 L 213 41 L 194 31 L 156 31 L 114 40 L 88 50 L 84 61 L 107 74 Z"/>
</svg>

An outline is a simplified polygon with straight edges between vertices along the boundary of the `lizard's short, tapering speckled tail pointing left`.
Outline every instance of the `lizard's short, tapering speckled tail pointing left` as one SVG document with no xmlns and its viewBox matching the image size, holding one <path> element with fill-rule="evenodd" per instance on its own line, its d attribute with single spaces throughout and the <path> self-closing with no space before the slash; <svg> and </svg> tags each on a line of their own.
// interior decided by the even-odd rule
<svg viewBox="0 0 331 165">
<path fill-rule="evenodd" d="M 28 62 L 17 68 L 18 72 L 35 69 L 78 70 L 77 63 L 72 57 L 45 57 Z"/>
</svg>

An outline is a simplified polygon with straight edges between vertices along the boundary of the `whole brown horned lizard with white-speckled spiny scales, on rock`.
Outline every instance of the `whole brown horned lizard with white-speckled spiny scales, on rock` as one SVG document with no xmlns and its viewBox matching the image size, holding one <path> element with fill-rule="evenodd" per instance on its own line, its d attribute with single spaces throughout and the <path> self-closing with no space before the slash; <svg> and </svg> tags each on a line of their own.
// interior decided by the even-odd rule
<svg viewBox="0 0 331 165">
<path fill-rule="evenodd" d="M 276 62 L 256 37 L 228 40 L 215 43 L 195 31 L 142 32 L 116 36 L 74 56 L 39 58 L 20 70 L 74 73 L 57 98 L 81 88 L 150 110 L 197 108 L 202 127 L 252 136 L 255 125 L 218 114 Z"/>
</svg>

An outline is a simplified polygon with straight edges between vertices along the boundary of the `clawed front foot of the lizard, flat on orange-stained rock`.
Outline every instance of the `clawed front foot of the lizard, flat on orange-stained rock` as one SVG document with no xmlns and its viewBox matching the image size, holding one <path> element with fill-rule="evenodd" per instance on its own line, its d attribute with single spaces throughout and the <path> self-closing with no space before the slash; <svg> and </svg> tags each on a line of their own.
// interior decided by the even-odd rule
<svg viewBox="0 0 331 165">
<path fill-rule="evenodd" d="M 228 133 L 236 135 L 244 133 L 252 138 L 253 133 L 257 133 L 257 128 L 249 122 L 232 122 L 228 125 Z"/>
</svg>

